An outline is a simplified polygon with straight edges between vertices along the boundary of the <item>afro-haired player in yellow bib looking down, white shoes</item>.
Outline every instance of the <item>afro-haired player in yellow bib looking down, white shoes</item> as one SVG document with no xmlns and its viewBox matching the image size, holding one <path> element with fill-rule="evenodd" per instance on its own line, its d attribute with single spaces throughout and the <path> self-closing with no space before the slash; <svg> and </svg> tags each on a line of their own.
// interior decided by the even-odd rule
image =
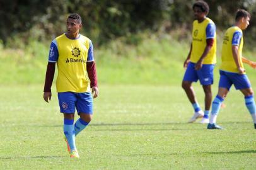
<svg viewBox="0 0 256 170">
<path fill-rule="evenodd" d="M 195 21 L 193 22 L 192 43 L 190 52 L 183 67 L 187 68 L 182 81 L 190 103 L 194 108 L 194 115 L 189 123 L 202 118 L 201 123 L 209 123 L 209 111 L 211 108 L 213 84 L 213 69 L 216 64 L 216 26 L 207 18 L 209 6 L 204 1 L 197 1 L 193 5 Z M 205 110 L 201 110 L 195 98 L 192 82 L 201 82 L 205 93 Z"/>
</svg>

